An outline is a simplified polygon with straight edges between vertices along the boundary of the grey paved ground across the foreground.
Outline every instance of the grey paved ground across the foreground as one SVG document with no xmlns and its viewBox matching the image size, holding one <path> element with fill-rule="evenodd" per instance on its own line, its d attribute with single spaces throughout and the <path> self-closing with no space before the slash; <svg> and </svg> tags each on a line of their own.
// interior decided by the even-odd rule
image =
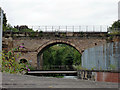
<svg viewBox="0 0 120 90">
<path fill-rule="evenodd" d="M 3 73 L 2 88 L 118 88 L 118 83 Z"/>
</svg>

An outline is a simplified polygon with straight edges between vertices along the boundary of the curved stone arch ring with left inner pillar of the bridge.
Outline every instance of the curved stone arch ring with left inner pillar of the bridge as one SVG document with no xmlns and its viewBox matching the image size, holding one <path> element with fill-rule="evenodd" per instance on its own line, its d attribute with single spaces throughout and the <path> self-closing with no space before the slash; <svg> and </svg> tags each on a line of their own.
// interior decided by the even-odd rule
<svg viewBox="0 0 120 90">
<path fill-rule="evenodd" d="M 66 44 L 68 46 L 73 47 L 74 49 L 76 49 L 80 54 L 82 53 L 82 51 L 73 43 L 70 43 L 68 41 L 64 41 L 64 40 L 53 40 L 53 41 L 49 41 L 45 44 L 43 44 L 41 47 L 38 48 L 37 52 L 37 69 L 41 70 L 42 66 L 43 66 L 43 60 L 42 60 L 42 53 L 44 50 L 46 50 L 47 48 L 56 45 L 56 44 Z"/>
</svg>

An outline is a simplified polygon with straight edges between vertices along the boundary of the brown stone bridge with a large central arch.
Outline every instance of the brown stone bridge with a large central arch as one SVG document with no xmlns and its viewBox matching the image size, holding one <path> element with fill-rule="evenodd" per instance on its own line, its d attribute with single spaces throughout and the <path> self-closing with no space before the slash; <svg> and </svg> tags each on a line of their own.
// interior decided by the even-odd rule
<svg viewBox="0 0 120 90">
<path fill-rule="evenodd" d="M 67 44 L 79 53 L 85 49 L 106 43 L 107 32 L 4 32 L 3 49 L 24 48 L 16 51 L 21 53 L 18 61 L 26 59 L 36 69 L 42 69 L 42 53 L 55 44 Z"/>
</svg>

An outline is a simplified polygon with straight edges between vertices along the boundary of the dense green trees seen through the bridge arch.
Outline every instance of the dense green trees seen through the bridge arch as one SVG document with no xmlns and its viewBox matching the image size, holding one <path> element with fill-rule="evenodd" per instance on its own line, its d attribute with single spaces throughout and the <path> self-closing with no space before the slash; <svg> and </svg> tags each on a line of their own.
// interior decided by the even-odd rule
<svg viewBox="0 0 120 90">
<path fill-rule="evenodd" d="M 46 69 L 51 65 L 80 65 L 81 54 L 73 47 L 57 44 L 43 52 L 43 60 Z"/>
</svg>

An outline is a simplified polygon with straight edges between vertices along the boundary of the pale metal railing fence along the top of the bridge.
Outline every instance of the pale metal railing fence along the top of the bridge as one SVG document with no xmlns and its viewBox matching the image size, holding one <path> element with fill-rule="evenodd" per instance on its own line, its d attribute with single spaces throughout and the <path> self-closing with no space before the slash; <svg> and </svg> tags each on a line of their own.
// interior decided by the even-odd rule
<svg viewBox="0 0 120 90">
<path fill-rule="evenodd" d="M 35 31 L 43 32 L 107 32 L 107 25 L 88 25 L 88 26 L 28 26 Z"/>
</svg>

